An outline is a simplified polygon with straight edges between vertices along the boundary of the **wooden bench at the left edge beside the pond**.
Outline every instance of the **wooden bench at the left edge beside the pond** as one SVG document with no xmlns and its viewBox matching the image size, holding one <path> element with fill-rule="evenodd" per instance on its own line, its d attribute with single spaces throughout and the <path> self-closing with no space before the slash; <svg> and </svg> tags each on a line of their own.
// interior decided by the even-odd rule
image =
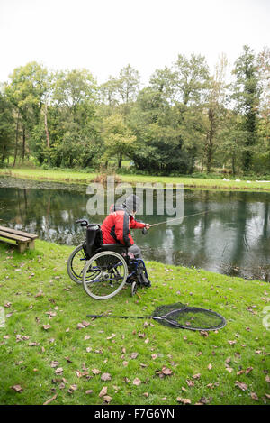
<svg viewBox="0 0 270 423">
<path fill-rule="evenodd" d="M 27 232 L 12 229 L 11 227 L 0 226 L 0 241 L 17 245 L 20 253 L 23 253 L 26 248 L 33 250 L 35 248 L 35 239 L 38 237 L 39 235 L 36 234 L 28 234 Z M 16 244 L 11 241 L 15 241 Z"/>
</svg>

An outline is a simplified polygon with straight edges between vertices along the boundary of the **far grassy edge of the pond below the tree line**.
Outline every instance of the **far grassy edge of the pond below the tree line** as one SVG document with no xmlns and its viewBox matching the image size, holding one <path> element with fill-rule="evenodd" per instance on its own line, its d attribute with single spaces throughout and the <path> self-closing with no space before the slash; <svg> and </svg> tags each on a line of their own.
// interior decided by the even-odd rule
<svg viewBox="0 0 270 423">
<path fill-rule="evenodd" d="M 30 170 L 33 173 L 33 170 Z M 40 174 L 26 174 L 25 169 L 17 169 L 17 170 L 10 170 L 10 169 L 0 169 L 0 176 L 7 176 L 12 178 L 18 179 L 31 179 L 37 181 L 49 181 L 49 182 L 59 182 L 59 183 L 72 183 L 77 185 L 87 185 L 89 183 L 94 182 L 94 179 L 97 178 L 97 173 L 91 174 L 82 174 L 79 175 L 79 178 L 75 177 L 76 172 L 70 172 L 70 176 L 68 174 L 61 175 L 61 170 L 38 170 L 38 172 L 42 172 L 42 176 Z M 58 173 L 57 176 L 49 175 L 49 172 Z M 23 172 L 23 173 L 22 173 Z M 44 175 L 43 175 L 44 174 Z M 85 178 L 81 178 L 81 176 L 85 175 Z M 90 176 L 91 175 L 91 176 Z M 176 184 L 183 184 L 184 188 L 186 189 L 202 189 L 202 190 L 216 190 L 216 191 L 247 191 L 247 192 L 270 192 L 270 182 L 266 183 L 266 185 L 262 186 L 260 182 L 251 182 L 251 186 L 247 185 L 247 181 L 238 182 L 238 184 L 242 184 L 240 186 L 232 185 L 235 181 L 223 181 L 222 179 L 195 179 L 195 178 L 171 178 L 171 177 L 144 177 L 141 175 L 115 175 L 116 182 L 123 182 L 123 183 L 130 183 L 132 186 L 135 186 L 136 183 L 172 183 L 174 187 Z M 204 183 L 203 183 L 203 182 Z M 208 185 L 209 184 L 209 185 Z M 245 184 L 245 185 L 244 185 Z M 256 184 L 255 186 L 253 184 Z"/>
</svg>

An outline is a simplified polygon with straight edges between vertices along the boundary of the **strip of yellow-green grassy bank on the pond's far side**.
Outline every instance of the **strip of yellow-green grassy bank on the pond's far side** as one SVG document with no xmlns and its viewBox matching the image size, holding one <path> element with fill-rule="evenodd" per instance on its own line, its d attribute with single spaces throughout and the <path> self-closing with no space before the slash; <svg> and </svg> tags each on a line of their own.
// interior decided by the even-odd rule
<svg viewBox="0 0 270 423">
<path fill-rule="evenodd" d="M 40 168 L 31 169 L 0 169 L 0 175 L 13 176 L 23 179 L 52 180 L 58 182 L 73 183 L 89 183 L 93 181 L 96 173 L 83 173 L 76 170 L 42 170 Z M 270 182 L 256 182 L 251 180 L 235 179 L 201 179 L 201 178 L 178 178 L 178 177 L 161 177 L 161 176 L 145 176 L 145 175 L 117 175 L 122 182 L 129 182 L 132 185 L 136 183 L 155 183 L 161 182 L 184 184 L 185 188 L 193 189 L 233 189 L 233 190 L 265 190 L 270 191 Z"/>
</svg>

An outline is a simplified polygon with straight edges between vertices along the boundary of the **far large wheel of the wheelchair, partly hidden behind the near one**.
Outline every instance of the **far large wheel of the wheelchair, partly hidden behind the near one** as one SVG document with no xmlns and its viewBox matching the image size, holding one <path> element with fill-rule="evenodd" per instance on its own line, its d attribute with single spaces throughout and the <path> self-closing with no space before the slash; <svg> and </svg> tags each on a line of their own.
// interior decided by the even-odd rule
<svg viewBox="0 0 270 423">
<path fill-rule="evenodd" d="M 70 279 L 74 280 L 77 284 L 83 282 L 83 271 L 85 263 L 87 261 L 85 255 L 84 244 L 80 244 L 76 249 L 69 255 L 67 260 L 67 273 Z M 86 280 L 91 280 L 94 276 L 97 276 L 98 271 L 89 272 L 86 276 Z"/>
</svg>

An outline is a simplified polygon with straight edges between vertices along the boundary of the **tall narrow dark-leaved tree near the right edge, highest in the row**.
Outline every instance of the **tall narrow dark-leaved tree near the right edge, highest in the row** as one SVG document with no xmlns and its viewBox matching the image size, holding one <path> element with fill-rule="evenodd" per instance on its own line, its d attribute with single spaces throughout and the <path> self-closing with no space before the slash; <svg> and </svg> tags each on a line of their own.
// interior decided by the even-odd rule
<svg viewBox="0 0 270 423">
<path fill-rule="evenodd" d="M 256 57 L 247 45 L 236 60 L 233 74 L 236 76 L 232 99 L 236 111 L 242 116 L 242 131 L 246 133 L 243 153 L 243 170 L 251 169 L 254 146 L 257 143 L 257 116 L 260 90 L 258 86 Z"/>
</svg>

